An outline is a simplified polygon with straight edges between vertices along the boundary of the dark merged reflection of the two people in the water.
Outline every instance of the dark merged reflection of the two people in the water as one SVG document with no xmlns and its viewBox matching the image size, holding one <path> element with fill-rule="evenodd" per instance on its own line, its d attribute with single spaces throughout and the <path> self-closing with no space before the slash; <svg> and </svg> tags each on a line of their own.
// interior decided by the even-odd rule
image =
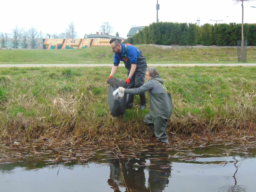
<svg viewBox="0 0 256 192">
<path fill-rule="evenodd" d="M 115 192 L 120 191 L 119 187 L 126 186 L 130 192 L 163 191 L 165 186 L 169 183 L 171 170 L 169 161 L 159 159 L 167 158 L 168 156 L 159 152 L 159 150 L 153 150 L 149 153 L 144 153 L 142 158 L 131 158 L 121 162 L 123 176 L 119 165 L 119 159 L 112 159 L 110 161 L 110 179 L 108 179 L 108 184 Z M 149 158 L 149 165 L 147 165 L 145 158 Z M 164 166 L 165 168 L 161 169 L 160 166 Z M 147 186 L 144 170 L 149 170 Z"/>
</svg>

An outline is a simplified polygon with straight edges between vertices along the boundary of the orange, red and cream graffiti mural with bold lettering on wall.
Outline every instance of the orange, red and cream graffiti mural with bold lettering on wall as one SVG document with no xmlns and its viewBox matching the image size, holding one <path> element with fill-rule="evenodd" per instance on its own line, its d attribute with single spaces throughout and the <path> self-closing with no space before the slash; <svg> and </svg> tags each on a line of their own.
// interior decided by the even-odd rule
<svg viewBox="0 0 256 192">
<path fill-rule="evenodd" d="M 43 49 L 82 49 L 107 46 L 110 39 L 43 39 Z"/>
</svg>

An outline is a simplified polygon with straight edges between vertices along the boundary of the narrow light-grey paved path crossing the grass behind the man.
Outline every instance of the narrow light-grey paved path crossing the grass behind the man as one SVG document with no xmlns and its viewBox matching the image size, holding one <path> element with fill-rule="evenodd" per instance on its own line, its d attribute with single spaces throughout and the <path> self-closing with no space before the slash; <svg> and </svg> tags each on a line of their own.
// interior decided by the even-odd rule
<svg viewBox="0 0 256 192">
<path fill-rule="evenodd" d="M 0 64 L 0 67 L 112 67 L 113 64 Z M 124 64 L 119 66 L 124 67 Z M 193 67 L 193 66 L 256 66 L 256 63 L 191 63 L 191 64 L 147 64 L 149 67 Z"/>
</svg>

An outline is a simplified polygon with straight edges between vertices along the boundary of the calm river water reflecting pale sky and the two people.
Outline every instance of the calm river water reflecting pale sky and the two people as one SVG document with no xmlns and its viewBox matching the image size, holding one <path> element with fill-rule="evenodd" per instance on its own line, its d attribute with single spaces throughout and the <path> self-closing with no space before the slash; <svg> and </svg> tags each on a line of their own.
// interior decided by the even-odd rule
<svg viewBox="0 0 256 192">
<path fill-rule="evenodd" d="M 78 152 L 2 162 L 0 191 L 256 191 L 255 150 L 246 147 Z"/>
</svg>

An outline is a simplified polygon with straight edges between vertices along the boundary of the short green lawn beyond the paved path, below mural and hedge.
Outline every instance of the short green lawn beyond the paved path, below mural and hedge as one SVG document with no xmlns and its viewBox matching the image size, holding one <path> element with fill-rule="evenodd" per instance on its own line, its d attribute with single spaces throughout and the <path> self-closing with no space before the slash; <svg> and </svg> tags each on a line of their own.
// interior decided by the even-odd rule
<svg viewBox="0 0 256 192">
<path fill-rule="evenodd" d="M 234 48 L 190 48 L 162 49 L 152 45 L 135 45 L 145 55 L 148 63 L 234 63 L 237 49 Z M 0 62 L 8 64 L 52 64 L 52 63 L 113 63 L 113 52 L 109 46 L 74 50 L 5 50 L 0 49 Z M 9 63 L 10 62 L 10 63 Z M 247 50 L 247 62 L 256 62 L 256 49 Z M 0 63 L 1 64 L 1 63 Z"/>
</svg>

